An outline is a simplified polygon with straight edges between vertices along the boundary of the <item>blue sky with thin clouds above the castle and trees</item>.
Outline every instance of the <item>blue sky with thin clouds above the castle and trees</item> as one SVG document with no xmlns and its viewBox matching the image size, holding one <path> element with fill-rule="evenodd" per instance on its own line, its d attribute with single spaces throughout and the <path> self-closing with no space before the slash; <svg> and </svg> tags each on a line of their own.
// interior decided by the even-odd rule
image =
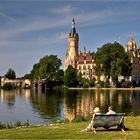
<svg viewBox="0 0 140 140">
<path fill-rule="evenodd" d="M 75 18 L 79 51 L 97 51 L 133 36 L 140 47 L 138 0 L 0 0 L 0 76 L 12 68 L 17 77 L 30 73 L 46 55 L 63 61 Z"/>
</svg>

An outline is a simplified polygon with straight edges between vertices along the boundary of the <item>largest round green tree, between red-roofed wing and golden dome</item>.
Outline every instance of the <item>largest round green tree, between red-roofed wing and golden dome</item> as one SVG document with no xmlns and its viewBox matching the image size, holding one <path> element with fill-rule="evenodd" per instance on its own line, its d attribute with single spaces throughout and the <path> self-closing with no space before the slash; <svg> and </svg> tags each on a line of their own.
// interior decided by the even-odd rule
<svg viewBox="0 0 140 140">
<path fill-rule="evenodd" d="M 111 78 L 116 84 L 118 76 L 129 76 L 131 73 L 130 58 L 121 44 L 118 42 L 104 44 L 95 54 L 95 73 L 101 73 Z"/>
</svg>

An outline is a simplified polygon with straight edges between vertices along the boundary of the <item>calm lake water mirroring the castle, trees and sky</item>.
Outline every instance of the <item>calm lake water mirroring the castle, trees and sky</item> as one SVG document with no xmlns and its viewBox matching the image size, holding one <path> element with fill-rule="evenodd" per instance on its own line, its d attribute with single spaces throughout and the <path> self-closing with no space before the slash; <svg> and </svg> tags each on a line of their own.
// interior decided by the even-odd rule
<svg viewBox="0 0 140 140">
<path fill-rule="evenodd" d="M 116 112 L 140 115 L 140 90 L 0 90 L 0 122 L 47 124 L 57 119 L 91 117 L 97 106 L 105 113 L 109 105 Z"/>
</svg>

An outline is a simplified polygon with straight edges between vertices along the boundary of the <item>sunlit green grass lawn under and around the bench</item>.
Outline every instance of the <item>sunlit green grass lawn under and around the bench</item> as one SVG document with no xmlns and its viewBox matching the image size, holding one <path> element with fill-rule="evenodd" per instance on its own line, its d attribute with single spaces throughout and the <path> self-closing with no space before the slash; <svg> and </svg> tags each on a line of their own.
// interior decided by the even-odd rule
<svg viewBox="0 0 140 140">
<path fill-rule="evenodd" d="M 94 132 L 81 132 L 89 122 L 64 123 L 53 126 L 1 129 L 0 139 L 91 139 L 122 140 L 140 139 L 140 116 L 125 118 L 126 133 L 112 129 L 97 129 Z"/>
</svg>

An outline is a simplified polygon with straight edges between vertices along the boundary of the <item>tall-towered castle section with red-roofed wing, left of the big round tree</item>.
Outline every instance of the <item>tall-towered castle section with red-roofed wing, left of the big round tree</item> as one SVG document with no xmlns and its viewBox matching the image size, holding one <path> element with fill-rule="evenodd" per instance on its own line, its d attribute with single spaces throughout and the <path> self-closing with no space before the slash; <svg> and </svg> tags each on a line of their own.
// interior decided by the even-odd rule
<svg viewBox="0 0 140 140">
<path fill-rule="evenodd" d="M 92 78 L 94 73 L 94 52 L 78 52 L 79 49 L 79 35 L 76 32 L 75 20 L 72 20 L 72 29 L 68 36 L 68 48 L 64 59 L 64 71 L 68 65 L 73 66 L 77 73 L 81 72 L 83 78 Z"/>
</svg>

